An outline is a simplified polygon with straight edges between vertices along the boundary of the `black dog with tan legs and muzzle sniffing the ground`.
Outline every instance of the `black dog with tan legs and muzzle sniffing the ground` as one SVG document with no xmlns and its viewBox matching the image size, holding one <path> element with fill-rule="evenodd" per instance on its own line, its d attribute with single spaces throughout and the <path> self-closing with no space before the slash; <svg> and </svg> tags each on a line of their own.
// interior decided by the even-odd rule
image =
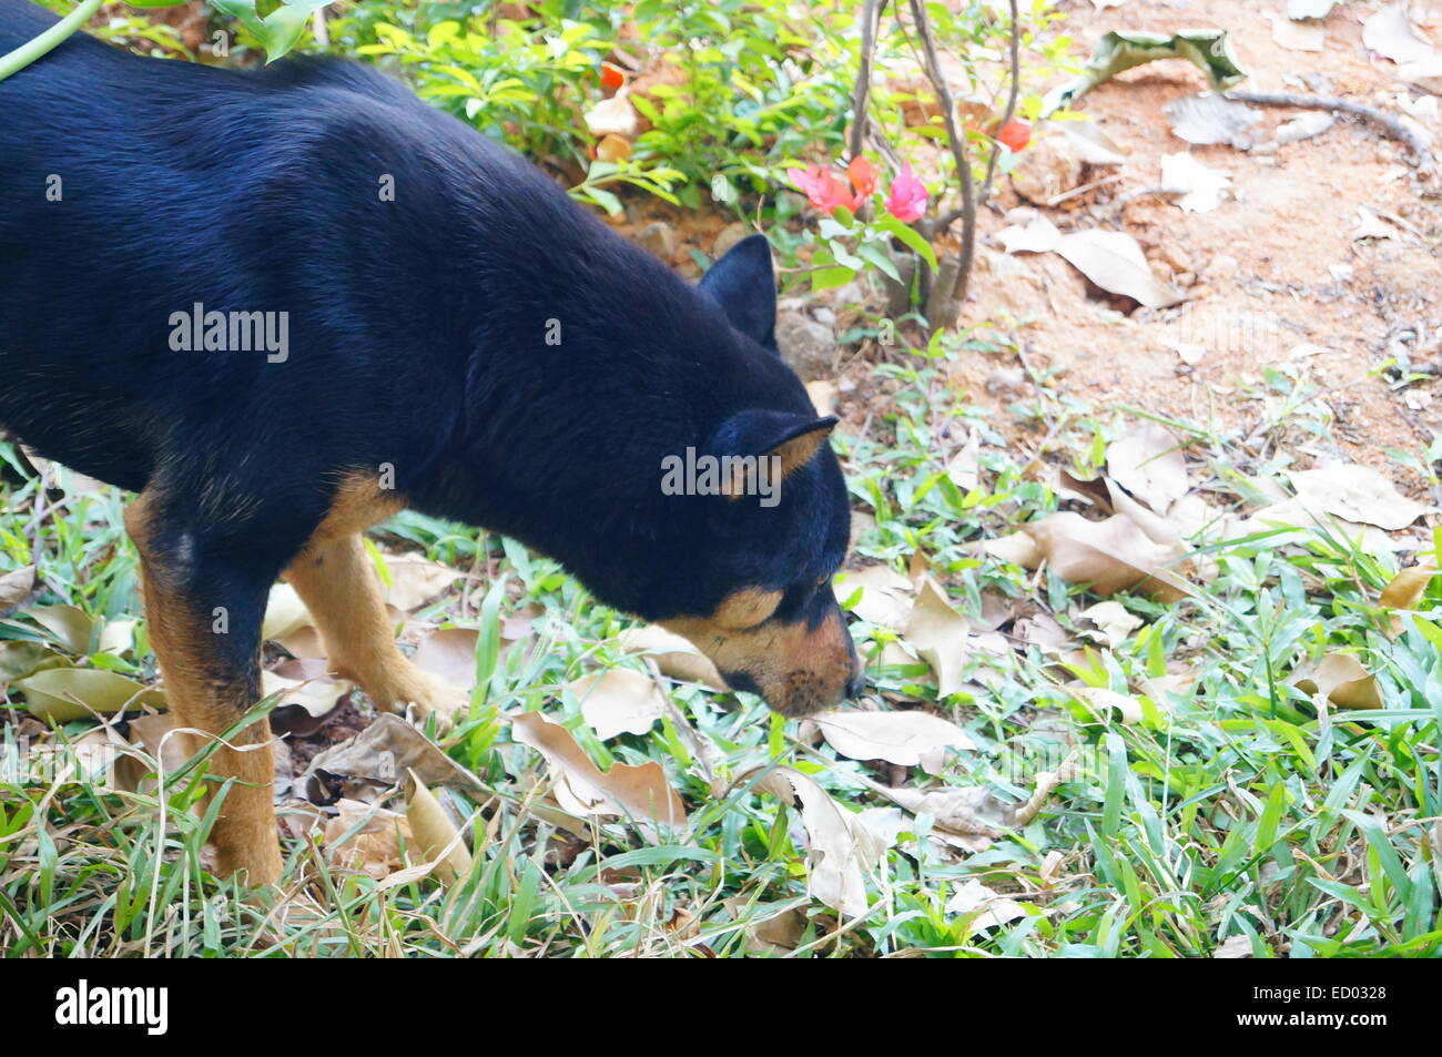
<svg viewBox="0 0 1442 1057">
<path fill-rule="evenodd" d="M 52 22 L 0 0 L 0 52 Z M 854 694 L 835 420 L 774 314 L 761 236 L 689 287 L 362 66 L 239 74 L 78 36 L 0 82 L 0 424 L 140 493 L 125 525 L 186 727 L 260 696 L 280 575 L 336 671 L 437 707 L 359 536 L 407 506 L 554 555 L 789 715 Z M 239 741 L 212 839 L 273 881 L 270 751 L 241 751 L 270 735 Z"/>
</svg>

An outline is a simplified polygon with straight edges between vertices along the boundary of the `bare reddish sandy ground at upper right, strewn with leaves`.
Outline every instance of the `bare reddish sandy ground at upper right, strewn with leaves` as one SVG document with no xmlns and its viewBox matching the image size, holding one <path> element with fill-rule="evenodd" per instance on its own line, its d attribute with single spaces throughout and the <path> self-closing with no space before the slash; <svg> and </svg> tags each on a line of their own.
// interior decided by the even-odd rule
<svg viewBox="0 0 1442 1057">
<path fill-rule="evenodd" d="M 1282 0 L 1131 0 L 1102 12 L 1090 0 L 1070 0 L 1060 32 L 1074 39 L 1080 59 L 1110 29 L 1226 27 L 1250 74 L 1239 88 L 1341 95 L 1394 114 L 1412 111 L 1435 134 L 1436 99 L 1409 91 L 1393 63 L 1368 58 L 1363 46 L 1361 20 L 1379 7 L 1340 4 L 1325 20 L 1321 52 L 1286 50 L 1273 42 L 1270 16 L 1285 9 Z M 1416 16 L 1425 27 L 1430 17 L 1430 36 L 1442 40 L 1442 9 Z M 1315 441 L 1314 454 L 1383 464 L 1390 461 L 1387 448 L 1420 451 L 1442 424 L 1430 381 L 1399 392 L 1376 368 L 1397 343 L 1413 369 L 1436 361 L 1438 183 L 1417 180 L 1400 144 L 1351 121 L 1270 156 L 1190 146 L 1172 134 L 1164 107 L 1206 88 L 1194 66 L 1165 61 L 1084 95 L 1079 108 L 1123 149 L 1126 162 L 1089 169 L 1083 182 L 1115 179 L 1041 209 L 1063 231 L 1100 226 L 1131 234 L 1154 273 L 1187 290 L 1184 304 L 1136 310 L 1135 303 L 1120 304 L 1089 288 L 1054 254 L 1005 254 L 995 236 L 1007 224 L 999 213 L 1024 202 L 1004 182 L 995 208 L 981 219 L 963 323 L 1015 320 L 1007 329 L 1034 371 L 1058 372 L 1058 394 L 1093 405 L 1141 405 L 1223 428 L 1259 420 L 1266 368 L 1293 365 L 1309 372 L 1334 415 L 1331 437 Z M 1279 123 L 1301 114 L 1260 112 L 1257 138 L 1269 138 Z M 1119 213 L 1116 199 L 1162 183 L 1162 156 L 1180 150 L 1229 173 L 1234 200 L 1187 213 L 1171 200 L 1146 198 Z M 1392 236 L 1357 238 L 1363 206 L 1390 215 L 1384 226 Z M 1184 362 L 1175 342 L 1203 346 L 1191 350 L 1194 363 Z M 968 398 L 995 402 L 983 382 L 996 368 L 995 358 L 970 358 L 959 365 L 956 381 Z"/>
</svg>

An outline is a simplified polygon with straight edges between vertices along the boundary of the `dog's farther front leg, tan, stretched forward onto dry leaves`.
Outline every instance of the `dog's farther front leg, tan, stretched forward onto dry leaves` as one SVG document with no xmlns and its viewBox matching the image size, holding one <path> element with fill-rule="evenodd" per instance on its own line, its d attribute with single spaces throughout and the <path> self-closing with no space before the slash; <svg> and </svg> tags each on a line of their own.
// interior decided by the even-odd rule
<svg viewBox="0 0 1442 1057">
<path fill-rule="evenodd" d="M 286 580 L 320 629 L 332 671 L 353 679 L 379 708 L 448 715 L 464 694 L 433 679 L 397 647 L 391 617 L 360 535 L 316 538 L 286 570 Z"/>
</svg>

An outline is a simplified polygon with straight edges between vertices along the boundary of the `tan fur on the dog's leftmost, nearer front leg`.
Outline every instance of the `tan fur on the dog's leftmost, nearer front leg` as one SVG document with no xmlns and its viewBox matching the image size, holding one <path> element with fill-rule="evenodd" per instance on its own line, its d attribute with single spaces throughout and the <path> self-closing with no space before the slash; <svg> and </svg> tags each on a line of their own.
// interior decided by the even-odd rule
<svg viewBox="0 0 1442 1057">
<path fill-rule="evenodd" d="M 251 671 L 225 671 L 215 652 L 212 616 L 173 585 L 174 577 L 147 557 L 150 505 L 141 495 L 125 509 L 125 529 L 140 552 L 141 596 L 150 645 L 160 662 L 166 701 L 179 727 L 193 727 L 212 737 L 183 735 L 196 753 L 234 725 L 258 699 L 260 656 Z M 211 831 L 219 872 L 244 870 L 251 884 L 274 884 L 281 857 L 275 836 L 274 782 L 270 724 L 252 722 L 211 757 L 208 769 L 235 783 L 225 795 Z"/>
</svg>

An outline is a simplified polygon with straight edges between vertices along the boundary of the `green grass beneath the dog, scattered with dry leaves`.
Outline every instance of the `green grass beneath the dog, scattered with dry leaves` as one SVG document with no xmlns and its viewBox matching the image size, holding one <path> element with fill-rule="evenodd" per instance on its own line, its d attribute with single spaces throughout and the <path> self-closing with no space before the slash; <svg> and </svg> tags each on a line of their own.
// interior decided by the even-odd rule
<svg viewBox="0 0 1442 1057">
<path fill-rule="evenodd" d="M 952 355 L 985 355 L 978 342 Z M 945 361 L 877 368 L 894 389 L 865 435 L 839 434 L 858 508 L 875 518 L 854 557 L 906 570 L 932 565 L 962 613 L 983 593 L 1045 610 L 1071 637 L 1063 662 L 1017 642 L 966 659 L 968 691 L 937 701 L 916 666 L 872 666 L 893 708 L 921 707 L 962 725 L 975 751 L 953 753 L 940 779 L 838 757 L 797 740 L 751 698 L 675 686 L 675 717 L 647 735 L 600 743 L 564 685 L 610 665 L 636 666 L 617 646 L 626 619 L 597 606 L 548 560 L 470 529 L 404 515 L 378 536 L 457 568 L 499 571 L 463 622 L 482 629 L 480 688 L 470 718 L 443 741 L 482 790 L 443 797 L 472 825 L 474 867 L 454 884 L 395 884 L 330 864 L 319 838 L 291 839 L 281 895 L 242 893 L 202 864 L 206 822 L 186 805 L 203 767 L 172 780 L 162 831 L 154 795 L 94 783 L 0 784 L 0 949 L 12 956 L 733 956 L 766 923 L 800 927 L 795 956 L 1210 956 L 1223 942 L 1253 956 L 1435 955 L 1442 946 L 1436 845 L 1442 724 L 1442 606 L 1436 588 L 1389 637 L 1377 596 L 1397 568 L 1327 532 L 1305 545 L 1262 536 L 1211 545 L 1218 568 L 1198 600 L 1122 601 L 1145 623 L 1116 647 L 1083 640 L 1077 610 L 1096 601 L 1043 570 L 978 557 L 972 544 L 1057 508 L 1031 451 L 1008 447 L 998 420 L 968 407 L 943 381 Z M 1278 451 L 1325 417 L 1305 382 L 1273 378 L 1292 412 L 1266 425 L 1259 457 L 1247 437 L 1172 423 L 1187 435 L 1194 483 L 1218 506 L 1230 482 L 1270 473 Z M 1094 461 L 1099 438 L 1125 417 L 1043 395 L 1009 408 L 1044 459 Z M 1311 418 L 1309 418 L 1311 417 Z M 963 495 L 945 474 L 959 425 L 982 431 L 982 482 Z M 950 438 L 943 438 L 943 428 Z M 1255 441 L 1255 434 L 1252 441 Z M 1200 460 L 1200 461 L 1198 461 Z M 120 496 L 43 499 L 35 483 L 9 487 L 0 513 L 0 568 L 39 558 L 43 601 L 108 619 L 138 616 L 134 555 Z M 433 606 L 454 613 L 456 597 Z M 500 653 L 499 622 L 538 607 L 529 646 Z M 0 636 L 26 634 L 23 619 Z M 22 630 L 17 630 L 22 629 Z M 885 633 L 855 622 L 858 642 Z M 153 678 L 138 652 L 89 663 Z M 1319 724 L 1311 698 L 1286 682 L 1304 656 L 1357 652 L 1376 672 L 1381 711 L 1332 709 Z M 497 656 L 499 653 L 499 656 Z M 1195 678 L 1171 695 L 1148 682 Z M 1096 715 L 1063 686 L 1080 681 L 1133 694 L 1135 722 Z M 14 701 L 14 698 L 12 698 Z M 12 704 L 0 734 L 23 715 Z M 685 796 L 691 825 L 649 839 L 624 822 L 584 835 L 555 829 L 532 808 L 545 790 L 535 753 L 515 746 L 508 712 L 545 709 L 601 767 L 659 763 Z M 66 724 L 76 738 L 94 722 Z M 1061 743 L 1076 773 L 1041 813 L 972 855 L 926 841 L 934 821 L 907 816 L 904 832 L 867 881 L 868 911 L 848 919 L 808 897 L 799 813 L 756 787 L 754 769 L 789 764 L 846 809 L 885 806 L 872 784 L 986 784 L 1024 799 L 1032 769 Z M 699 747 L 699 748 L 698 748 Z M 698 756 L 699 753 L 699 756 Z M 707 780 L 711 774 L 712 782 Z M 979 923 L 949 910 L 981 881 L 1017 916 Z M 797 917 L 797 914 L 800 917 Z"/>
</svg>

